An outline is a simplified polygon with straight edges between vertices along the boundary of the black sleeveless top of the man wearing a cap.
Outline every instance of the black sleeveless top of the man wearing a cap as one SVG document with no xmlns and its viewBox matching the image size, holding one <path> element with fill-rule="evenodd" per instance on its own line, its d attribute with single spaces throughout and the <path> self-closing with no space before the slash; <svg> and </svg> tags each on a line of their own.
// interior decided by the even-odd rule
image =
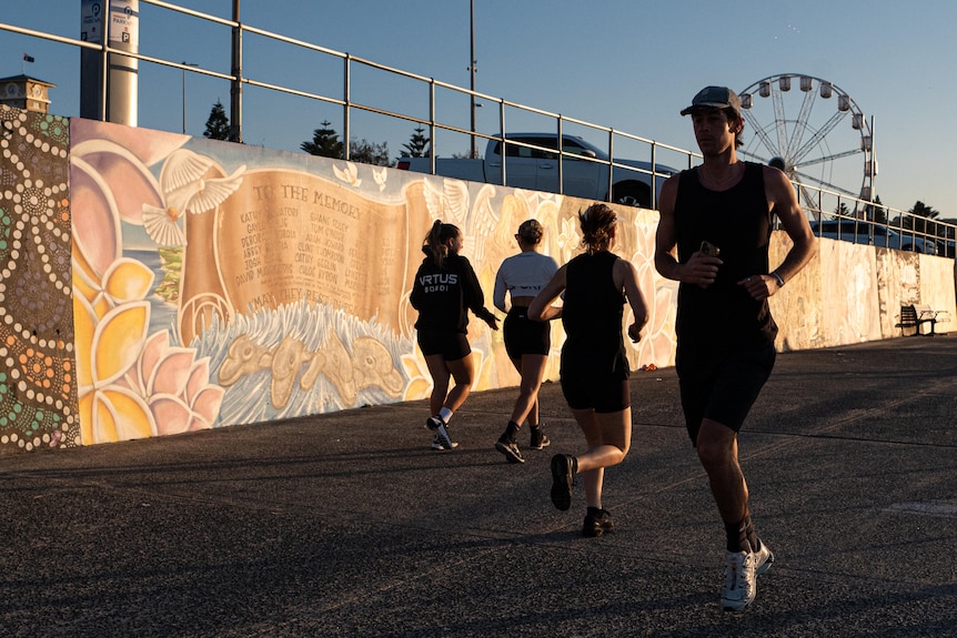
<svg viewBox="0 0 957 638">
<path fill-rule="evenodd" d="M 678 348 L 726 352 L 741 345 L 774 343 L 777 325 L 767 301 L 755 301 L 737 282 L 767 274 L 772 213 L 764 189 L 764 166 L 745 163 L 741 182 L 727 191 L 711 191 L 696 169 L 682 171 L 675 200 L 678 261 L 708 241 L 721 249 L 717 280 L 707 288 L 678 286 L 675 332 Z"/>
</svg>

